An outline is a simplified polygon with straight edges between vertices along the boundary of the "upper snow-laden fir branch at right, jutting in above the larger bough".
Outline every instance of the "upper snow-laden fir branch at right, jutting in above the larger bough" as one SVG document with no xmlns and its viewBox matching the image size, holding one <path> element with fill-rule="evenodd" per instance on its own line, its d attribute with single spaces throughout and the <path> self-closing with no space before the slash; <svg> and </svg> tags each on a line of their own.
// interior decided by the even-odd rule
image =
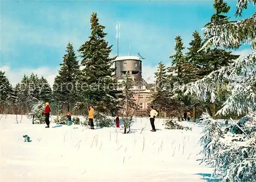
<svg viewBox="0 0 256 182">
<path fill-rule="evenodd" d="M 256 49 L 256 13 L 241 21 L 229 21 L 221 25 L 212 22 L 202 30 L 205 31 L 204 37 L 207 42 L 198 51 L 211 45 L 223 48 L 239 48 L 241 43 L 249 44 Z"/>
</svg>

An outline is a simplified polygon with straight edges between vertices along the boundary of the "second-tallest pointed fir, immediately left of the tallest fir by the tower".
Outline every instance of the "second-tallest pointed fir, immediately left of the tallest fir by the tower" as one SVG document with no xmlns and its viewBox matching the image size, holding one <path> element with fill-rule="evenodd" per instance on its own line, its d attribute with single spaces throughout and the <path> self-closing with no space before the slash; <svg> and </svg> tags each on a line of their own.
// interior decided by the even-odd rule
<svg viewBox="0 0 256 182">
<path fill-rule="evenodd" d="M 67 54 L 63 56 L 63 63 L 60 64 L 60 70 L 54 80 L 53 97 L 56 101 L 69 106 L 70 103 L 74 104 L 77 100 L 78 90 L 76 90 L 76 85 L 79 74 L 79 63 L 73 45 L 70 42 L 67 45 L 66 52 Z M 46 84 L 45 81 L 42 82 L 42 84 Z M 46 84 L 44 86 L 49 92 L 48 85 Z M 46 100 L 50 98 L 47 96 L 42 99 Z"/>
</svg>

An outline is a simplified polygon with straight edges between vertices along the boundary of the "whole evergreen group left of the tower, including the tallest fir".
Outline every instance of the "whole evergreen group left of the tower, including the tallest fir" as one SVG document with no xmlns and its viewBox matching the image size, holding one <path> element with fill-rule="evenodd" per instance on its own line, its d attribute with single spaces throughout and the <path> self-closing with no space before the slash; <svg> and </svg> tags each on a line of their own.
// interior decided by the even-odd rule
<svg viewBox="0 0 256 182">
<path fill-rule="evenodd" d="M 93 105 L 98 112 L 113 115 L 122 108 L 124 95 L 117 89 L 119 83 L 113 74 L 112 45 L 105 40 L 105 27 L 99 24 L 97 13 L 92 13 L 90 22 L 91 35 L 78 49 L 81 60 L 69 42 L 53 88 L 44 77 L 38 79 L 33 73 L 24 75 L 13 88 L 0 72 L 1 113 L 28 114 L 39 101 L 49 102 L 53 114 L 67 110 L 85 114 Z"/>
</svg>

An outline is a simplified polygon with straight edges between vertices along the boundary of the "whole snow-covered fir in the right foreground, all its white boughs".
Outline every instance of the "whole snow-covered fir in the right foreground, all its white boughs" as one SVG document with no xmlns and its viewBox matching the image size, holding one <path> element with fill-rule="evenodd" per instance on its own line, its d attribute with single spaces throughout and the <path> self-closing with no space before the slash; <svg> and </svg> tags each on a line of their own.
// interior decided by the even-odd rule
<svg viewBox="0 0 256 182">
<path fill-rule="evenodd" d="M 219 1 L 215 1 L 215 4 Z M 255 1 L 239 0 L 236 16 L 241 15 L 248 3 Z M 247 122 L 234 123 L 241 128 L 241 133 L 224 133 L 224 128 L 206 114 L 206 126 L 201 138 L 203 159 L 215 168 L 214 175 L 222 181 L 256 180 L 256 13 L 240 21 L 222 23 L 210 22 L 204 28 L 207 42 L 202 47 L 239 48 L 241 43 L 248 43 L 252 51 L 229 65 L 211 72 L 203 79 L 184 85 L 185 93 L 195 93 L 198 98 L 211 101 L 217 99 L 218 87 L 226 87 L 229 95 L 217 115 L 236 113 L 247 115 Z M 208 119 L 207 119 L 208 118 Z M 244 119 L 244 118 L 243 118 Z M 242 120 L 241 120 L 242 121 Z M 218 127 L 218 129 L 217 129 Z M 214 135 L 212 135 L 212 131 Z M 218 140 L 219 139 L 219 140 Z"/>
</svg>

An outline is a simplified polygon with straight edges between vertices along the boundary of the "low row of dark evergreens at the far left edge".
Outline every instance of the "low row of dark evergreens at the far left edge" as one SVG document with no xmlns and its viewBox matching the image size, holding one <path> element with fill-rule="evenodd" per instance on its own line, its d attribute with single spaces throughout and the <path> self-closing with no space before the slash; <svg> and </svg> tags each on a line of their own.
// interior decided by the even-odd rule
<svg viewBox="0 0 256 182">
<path fill-rule="evenodd" d="M 24 75 L 13 87 L 5 72 L 0 71 L 0 112 L 5 114 L 27 114 L 38 101 L 52 100 L 52 89 L 45 77 L 36 74 Z"/>
</svg>

